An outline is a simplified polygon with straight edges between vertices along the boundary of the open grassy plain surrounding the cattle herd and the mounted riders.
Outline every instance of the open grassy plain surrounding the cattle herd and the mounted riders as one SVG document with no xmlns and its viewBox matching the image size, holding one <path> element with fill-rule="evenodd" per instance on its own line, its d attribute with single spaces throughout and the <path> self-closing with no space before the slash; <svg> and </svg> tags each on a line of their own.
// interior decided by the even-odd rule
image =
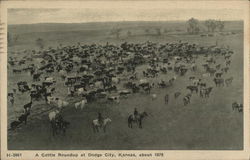
<svg viewBox="0 0 250 160">
<path fill-rule="evenodd" d="M 182 25 L 180 25 L 182 24 Z M 39 24 L 37 24 L 39 25 Z M 47 24 L 48 25 L 48 24 Z M 153 89 L 153 93 L 158 95 L 157 99 L 152 101 L 150 95 L 133 94 L 127 98 L 121 99 L 119 104 L 108 104 L 95 102 L 87 105 L 83 111 L 76 111 L 73 105 L 64 110 L 63 115 L 70 122 L 70 127 L 65 136 L 53 137 L 51 134 L 50 124 L 48 120 L 48 112 L 50 106 L 45 105 L 44 101 L 35 102 L 32 108 L 31 117 L 28 119 L 27 125 L 22 125 L 16 131 L 8 133 L 8 149 L 167 149 L 167 150 L 239 150 L 243 149 L 243 114 L 238 111 L 232 111 L 231 104 L 234 101 L 243 102 L 243 34 L 242 23 L 228 22 L 226 31 L 238 31 L 237 34 L 218 37 L 200 37 L 199 35 L 175 34 L 169 35 L 145 35 L 143 28 L 152 26 L 168 26 L 171 29 L 179 27 L 184 30 L 184 23 L 131 23 L 124 25 L 123 29 L 129 29 L 134 33 L 131 37 L 125 35 L 120 39 L 116 39 L 108 34 L 110 25 L 91 25 L 80 24 L 65 28 L 58 27 L 41 27 L 38 29 L 29 26 L 33 30 L 25 32 L 24 26 L 11 26 L 9 31 L 13 34 L 20 34 L 19 42 L 9 47 L 9 56 L 11 52 L 23 49 L 36 48 L 34 41 L 41 37 L 45 40 L 46 46 L 57 46 L 58 44 L 76 44 L 83 43 L 110 43 L 119 44 L 123 41 L 129 42 L 145 42 L 147 40 L 159 43 L 177 42 L 179 40 L 197 43 L 200 45 L 214 45 L 216 40 L 220 46 L 229 46 L 235 53 L 232 56 L 232 64 L 226 77 L 233 76 L 234 80 L 230 87 L 216 88 L 209 77 L 206 82 L 213 86 L 210 98 L 199 98 L 194 95 L 188 106 L 183 106 L 182 96 L 187 93 L 185 89 L 190 83 L 189 76 L 201 76 L 203 72 L 201 64 L 204 58 L 199 57 L 197 60 L 198 71 L 188 71 L 187 76 L 178 77 L 174 86 L 167 89 Z M 117 24 L 121 25 L 121 23 Z M 45 25 L 46 26 L 46 25 Z M 49 26 L 49 25 L 48 25 Z M 59 25 L 60 26 L 60 25 Z M 92 26 L 96 26 L 92 27 Z M 181 26 L 181 27 L 180 27 Z M 16 27 L 16 28 L 15 28 Z M 27 27 L 27 26 L 26 26 Z M 79 30 L 79 28 L 81 28 Z M 24 27 L 25 28 L 25 27 Z M 89 30 L 91 28 L 91 30 Z M 39 31 L 41 32 L 39 32 Z M 16 56 L 16 55 L 15 55 Z M 19 56 L 19 55 L 18 55 Z M 218 61 L 224 63 L 222 58 Z M 138 71 L 144 66 L 137 68 Z M 159 79 L 168 79 L 173 73 L 161 75 Z M 58 77 L 57 74 L 53 76 Z M 11 89 L 15 83 L 20 80 L 31 82 L 31 77 L 27 74 L 15 74 L 8 72 L 8 88 Z M 66 88 L 59 81 L 56 84 L 56 96 L 66 97 Z M 174 92 L 181 91 L 182 95 L 174 100 Z M 168 105 L 164 104 L 164 95 L 170 95 Z M 79 97 L 65 98 L 69 102 L 79 100 Z M 15 119 L 15 111 L 21 112 L 22 106 L 29 102 L 28 94 L 19 94 L 16 96 L 15 106 L 8 106 L 9 122 Z M 146 111 L 150 116 L 143 121 L 143 129 L 137 127 L 129 129 L 127 127 L 127 117 L 133 112 L 134 108 L 139 111 Z M 112 119 L 111 125 L 108 126 L 107 132 L 94 134 L 91 127 L 91 121 L 97 117 L 97 113 L 101 111 L 104 117 Z"/>
</svg>

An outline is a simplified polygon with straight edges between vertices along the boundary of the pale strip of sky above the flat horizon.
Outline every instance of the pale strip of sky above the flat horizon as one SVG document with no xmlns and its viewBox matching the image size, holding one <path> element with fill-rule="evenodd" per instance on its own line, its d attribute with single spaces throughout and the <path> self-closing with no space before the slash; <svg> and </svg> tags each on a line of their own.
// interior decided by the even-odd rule
<svg viewBox="0 0 250 160">
<path fill-rule="evenodd" d="M 199 20 L 242 20 L 239 15 L 243 14 L 243 11 L 239 8 L 222 9 L 194 6 L 194 9 L 187 9 L 181 6 L 166 7 L 166 5 L 159 3 L 158 5 L 149 4 L 143 7 L 136 3 L 120 6 L 118 7 L 114 3 L 114 5 L 110 4 L 104 7 L 85 5 L 81 8 L 13 8 L 8 9 L 8 24 L 168 21 L 187 20 L 191 17 Z"/>
</svg>

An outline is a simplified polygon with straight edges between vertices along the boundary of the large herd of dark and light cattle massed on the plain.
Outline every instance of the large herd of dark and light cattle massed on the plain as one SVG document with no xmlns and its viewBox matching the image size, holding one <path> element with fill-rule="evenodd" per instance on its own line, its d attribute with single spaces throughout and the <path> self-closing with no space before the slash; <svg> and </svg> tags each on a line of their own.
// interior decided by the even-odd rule
<svg viewBox="0 0 250 160">
<path fill-rule="evenodd" d="M 172 96 L 176 100 L 182 100 L 183 105 L 187 106 L 193 94 L 209 98 L 214 87 L 231 85 L 233 77 L 227 74 L 233 54 L 229 47 L 203 47 L 179 41 L 166 44 L 79 44 L 39 52 L 24 51 L 25 56 L 19 59 L 10 55 L 10 73 L 18 78 L 19 74 L 28 72 L 32 77 L 30 82 L 19 81 L 8 93 L 12 105 L 17 92 L 27 92 L 30 95 L 30 102 L 23 106 L 24 113 L 11 122 L 10 126 L 15 129 L 23 122 L 26 124 L 33 107 L 32 102 L 45 100 L 47 105 L 54 106 L 48 113 L 53 134 L 65 132 L 69 122 L 60 114 L 64 108 L 74 106 L 75 109 L 84 109 L 87 103 L 98 100 L 119 103 L 120 98 L 133 93 L 150 95 L 154 100 L 157 94 L 152 93 L 153 88 L 167 89 L 175 84 L 177 78 L 189 75 L 186 77 L 190 85 L 185 88 L 189 92 L 184 94 L 182 91 L 176 91 Z M 37 57 L 41 59 L 39 64 L 35 61 Z M 205 59 L 205 62 L 198 64 L 196 61 L 199 57 Z M 223 63 L 217 61 L 219 58 Z M 144 69 L 139 71 L 138 67 L 143 65 Z M 196 73 L 197 70 L 202 70 L 202 76 L 191 76 L 191 73 Z M 166 75 L 167 78 L 160 79 L 160 75 Z M 213 81 L 214 85 L 208 86 L 205 82 L 207 79 Z M 67 102 L 65 97 L 55 97 L 54 93 L 60 92 L 61 88 L 56 88 L 56 84 L 60 82 L 67 87 L 66 96 L 82 97 L 82 100 Z M 168 104 L 171 96 L 166 94 L 164 97 L 165 104 Z M 242 112 L 243 105 L 234 102 L 232 108 Z M 107 123 L 111 122 L 110 118 L 105 120 Z M 138 120 L 135 122 L 138 123 Z M 97 131 L 98 128 L 105 127 L 99 125 L 96 120 L 93 120 L 93 126 Z"/>
</svg>

